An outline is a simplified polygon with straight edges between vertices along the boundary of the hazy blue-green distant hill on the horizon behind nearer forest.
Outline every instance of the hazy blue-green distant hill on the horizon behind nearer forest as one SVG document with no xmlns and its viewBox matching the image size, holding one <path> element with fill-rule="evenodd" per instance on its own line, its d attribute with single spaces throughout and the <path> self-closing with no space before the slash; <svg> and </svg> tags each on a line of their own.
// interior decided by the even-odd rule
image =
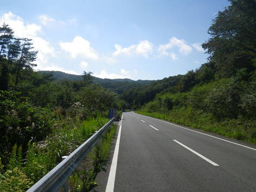
<svg viewBox="0 0 256 192">
<path fill-rule="evenodd" d="M 39 73 L 50 73 L 51 71 L 39 71 Z M 64 73 L 61 71 L 54 71 L 54 75 L 52 76 L 55 81 L 80 81 L 82 80 L 82 75 L 73 75 Z M 131 80 L 131 79 L 101 79 L 96 78 L 93 76 L 93 82 L 99 83 L 101 86 L 103 86 L 106 89 L 113 89 L 117 94 L 122 94 L 125 90 L 138 87 L 141 85 L 148 85 L 152 82 L 155 82 L 155 80 Z"/>
</svg>

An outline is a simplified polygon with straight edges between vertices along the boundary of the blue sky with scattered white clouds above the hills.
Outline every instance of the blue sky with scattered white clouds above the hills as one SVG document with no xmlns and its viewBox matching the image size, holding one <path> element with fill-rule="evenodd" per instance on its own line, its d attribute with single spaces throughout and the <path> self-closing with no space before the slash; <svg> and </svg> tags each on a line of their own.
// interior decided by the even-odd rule
<svg viewBox="0 0 256 192">
<path fill-rule="evenodd" d="M 201 44 L 228 0 L 11 0 L 0 24 L 33 39 L 34 69 L 158 80 L 207 62 Z"/>
</svg>

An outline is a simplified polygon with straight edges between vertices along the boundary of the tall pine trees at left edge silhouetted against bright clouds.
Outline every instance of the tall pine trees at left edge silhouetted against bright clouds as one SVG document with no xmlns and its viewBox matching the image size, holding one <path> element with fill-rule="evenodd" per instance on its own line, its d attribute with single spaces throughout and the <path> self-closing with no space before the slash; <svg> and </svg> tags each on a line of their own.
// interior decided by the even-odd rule
<svg viewBox="0 0 256 192">
<path fill-rule="evenodd" d="M 33 50 L 32 40 L 17 39 L 13 34 L 9 25 L 4 23 L 0 27 L 0 90 L 7 90 L 9 85 L 17 87 L 23 75 L 21 72 L 32 71 L 36 66 L 33 62 L 37 51 Z"/>
</svg>

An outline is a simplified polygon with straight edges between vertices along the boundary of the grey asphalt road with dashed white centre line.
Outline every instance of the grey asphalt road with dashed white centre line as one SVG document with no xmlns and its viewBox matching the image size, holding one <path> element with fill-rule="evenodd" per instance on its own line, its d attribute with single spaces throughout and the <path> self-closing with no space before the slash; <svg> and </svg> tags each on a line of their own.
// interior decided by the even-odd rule
<svg viewBox="0 0 256 192">
<path fill-rule="evenodd" d="M 123 113 L 119 130 L 114 190 L 107 192 L 256 191 L 255 145 L 134 112 Z M 109 185 L 115 148 L 94 191 Z"/>
</svg>

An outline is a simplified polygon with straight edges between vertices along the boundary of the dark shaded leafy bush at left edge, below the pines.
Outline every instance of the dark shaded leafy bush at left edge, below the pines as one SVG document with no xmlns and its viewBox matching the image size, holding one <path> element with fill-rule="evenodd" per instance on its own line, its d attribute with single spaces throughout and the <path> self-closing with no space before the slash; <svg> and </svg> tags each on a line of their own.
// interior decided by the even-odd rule
<svg viewBox="0 0 256 192">
<path fill-rule="evenodd" d="M 52 112 L 33 107 L 20 93 L 0 91 L 0 109 L 0 150 L 4 159 L 15 143 L 26 147 L 32 138 L 41 141 L 51 132 Z"/>
</svg>

